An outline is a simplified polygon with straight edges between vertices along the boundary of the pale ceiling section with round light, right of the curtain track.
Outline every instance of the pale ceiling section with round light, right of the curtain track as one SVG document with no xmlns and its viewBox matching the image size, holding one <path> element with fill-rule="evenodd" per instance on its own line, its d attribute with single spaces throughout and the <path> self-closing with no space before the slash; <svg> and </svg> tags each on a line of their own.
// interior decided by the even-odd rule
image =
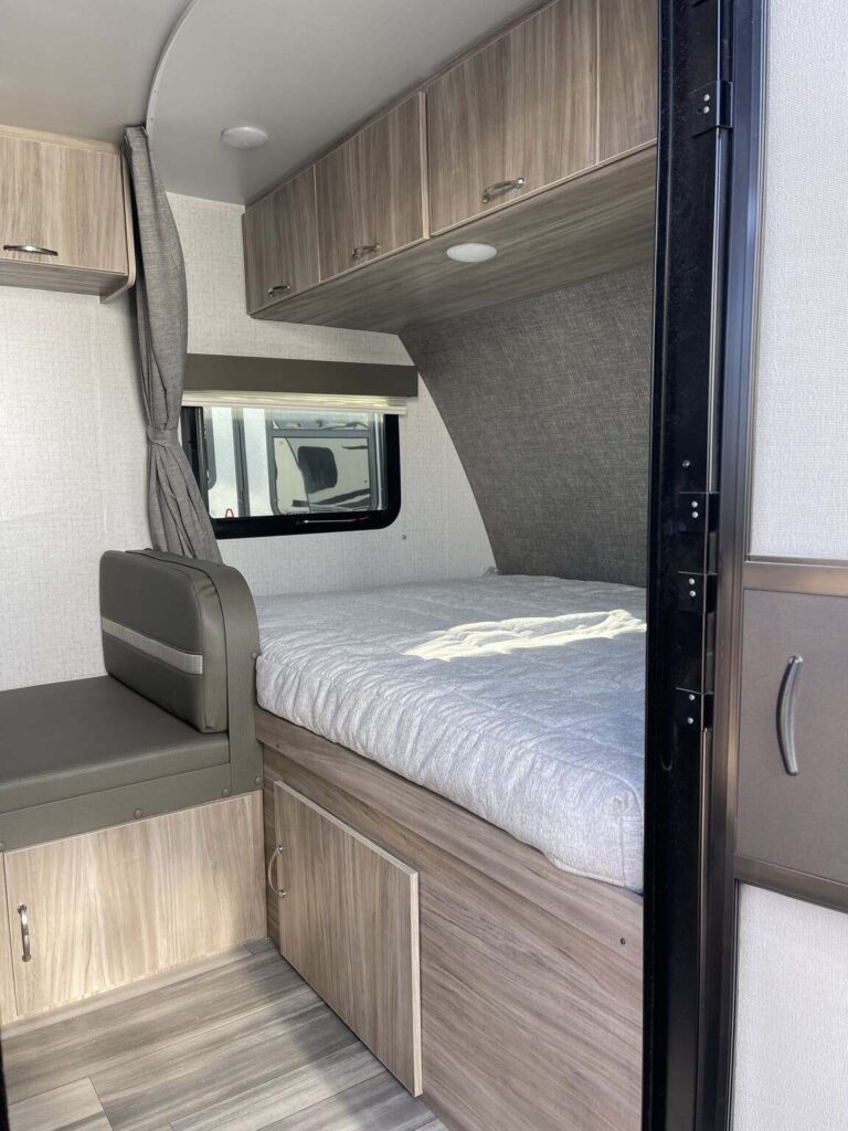
<svg viewBox="0 0 848 1131">
<path fill-rule="evenodd" d="M 118 9 L 123 3 L 113 0 Z M 147 127 L 163 180 L 189 196 L 250 199 L 534 6 L 533 0 L 196 0 L 163 58 L 150 101 Z M 44 34 L 52 32 L 45 27 Z M 220 131 L 239 124 L 265 129 L 268 145 L 225 146 Z"/>
</svg>

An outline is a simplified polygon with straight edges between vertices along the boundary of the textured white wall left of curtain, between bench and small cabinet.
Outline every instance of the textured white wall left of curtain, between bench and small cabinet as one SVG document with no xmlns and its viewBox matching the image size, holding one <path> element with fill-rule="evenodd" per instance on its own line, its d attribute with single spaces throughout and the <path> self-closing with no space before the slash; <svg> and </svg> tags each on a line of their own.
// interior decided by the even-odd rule
<svg viewBox="0 0 848 1131">
<path fill-rule="evenodd" d="M 0 287 L 0 688 L 102 671 L 97 563 L 149 544 L 131 300 Z"/>
</svg>

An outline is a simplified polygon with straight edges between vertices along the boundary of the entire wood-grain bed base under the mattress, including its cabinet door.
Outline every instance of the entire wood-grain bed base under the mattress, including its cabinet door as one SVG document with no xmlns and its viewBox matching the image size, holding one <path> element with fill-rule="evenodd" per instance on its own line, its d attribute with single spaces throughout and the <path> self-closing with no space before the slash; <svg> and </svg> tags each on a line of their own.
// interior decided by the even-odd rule
<svg viewBox="0 0 848 1131">
<path fill-rule="evenodd" d="M 419 1089 L 448 1126 L 637 1131 L 641 898 L 309 731 L 257 720 L 284 957 L 417 1091 L 417 925 Z"/>
</svg>

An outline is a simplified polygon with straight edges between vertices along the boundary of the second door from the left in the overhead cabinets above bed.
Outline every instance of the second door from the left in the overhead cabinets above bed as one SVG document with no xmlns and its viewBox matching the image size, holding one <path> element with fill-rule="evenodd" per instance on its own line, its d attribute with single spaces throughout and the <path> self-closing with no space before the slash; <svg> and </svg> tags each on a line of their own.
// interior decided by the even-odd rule
<svg viewBox="0 0 848 1131">
<path fill-rule="evenodd" d="M 424 166 L 422 94 L 318 162 L 322 279 L 426 236 Z"/>
</svg>

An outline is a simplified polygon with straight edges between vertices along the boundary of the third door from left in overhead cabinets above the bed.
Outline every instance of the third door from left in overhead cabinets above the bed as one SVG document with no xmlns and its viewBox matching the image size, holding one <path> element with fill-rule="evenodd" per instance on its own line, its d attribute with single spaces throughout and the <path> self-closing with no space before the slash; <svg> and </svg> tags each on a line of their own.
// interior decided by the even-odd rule
<svg viewBox="0 0 848 1131">
<path fill-rule="evenodd" d="M 557 0 L 427 87 L 433 232 L 596 162 L 592 0 Z"/>
</svg>

